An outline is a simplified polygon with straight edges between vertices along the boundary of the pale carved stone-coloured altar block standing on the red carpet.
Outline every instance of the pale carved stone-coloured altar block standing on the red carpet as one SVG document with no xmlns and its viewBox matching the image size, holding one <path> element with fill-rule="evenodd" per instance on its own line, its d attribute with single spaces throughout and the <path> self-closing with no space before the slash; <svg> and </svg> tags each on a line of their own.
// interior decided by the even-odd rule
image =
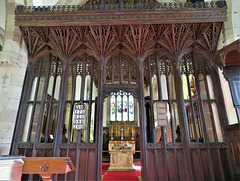
<svg viewBox="0 0 240 181">
<path fill-rule="evenodd" d="M 131 142 L 131 143 L 128 143 Z M 133 169 L 134 141 L 110 141 L 110 171 L 130 171 Z"/>
</svg>

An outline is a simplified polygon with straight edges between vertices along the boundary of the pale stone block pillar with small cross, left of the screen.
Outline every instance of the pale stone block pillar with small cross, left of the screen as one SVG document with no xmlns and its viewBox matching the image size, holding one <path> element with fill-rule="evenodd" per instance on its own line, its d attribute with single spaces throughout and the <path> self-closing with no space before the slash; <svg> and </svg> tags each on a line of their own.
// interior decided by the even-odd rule
<svg viewBox="0 0 240 181">
<path fill-rule="evenodd" d="M 14 0 L 6 2 L 5 42 L 0 52 L 0 155 L 9 154 L 26 71 L 25 44 L 14 25 Z"/>
</svg>

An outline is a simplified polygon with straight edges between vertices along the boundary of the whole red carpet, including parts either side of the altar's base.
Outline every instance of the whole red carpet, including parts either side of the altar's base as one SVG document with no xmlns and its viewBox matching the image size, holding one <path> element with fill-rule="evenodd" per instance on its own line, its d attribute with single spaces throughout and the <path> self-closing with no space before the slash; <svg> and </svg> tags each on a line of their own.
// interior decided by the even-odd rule
<svg viewBox="0 0 240 181">
<path fill-rule="evenodd" d="M 102 176 L 105 180 L 136 180 L 141 176 L 141 164 L 134 164 L 135 171 L 108 171 L 109 164 L 102 164 Z"/>
</svg>

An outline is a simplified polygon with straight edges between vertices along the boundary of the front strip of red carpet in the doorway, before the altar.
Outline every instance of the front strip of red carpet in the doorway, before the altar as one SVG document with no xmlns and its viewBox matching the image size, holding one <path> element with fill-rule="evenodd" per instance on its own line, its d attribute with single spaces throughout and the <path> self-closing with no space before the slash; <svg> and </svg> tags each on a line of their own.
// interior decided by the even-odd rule
<svg viewBox="0 0 240 181">
<path fill-rule="evenodd" d="M 138 180 L 135 171 L 108 171 L 103 180 Z"/>
</svg>

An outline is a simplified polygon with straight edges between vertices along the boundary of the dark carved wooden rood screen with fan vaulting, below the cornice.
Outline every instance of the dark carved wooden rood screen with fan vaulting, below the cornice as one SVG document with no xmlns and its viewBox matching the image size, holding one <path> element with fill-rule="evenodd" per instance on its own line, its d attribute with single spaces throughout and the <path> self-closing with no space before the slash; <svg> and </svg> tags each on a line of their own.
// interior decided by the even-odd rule
<svg viewBox="0 0 240 181">
<path fill-rule="evenodd" d="M 139 101 L 144 179 L 218 178 L 219 170 L 229 170 L 224 165 L 213 168 L 228 154 L 225 143 L 217 143 L 223 140 L 219 120 L 225 118 L 219 111 L 219 84 L 213 83 L 218 81 L 213 55 L 220 25 L 59 26 L 39 27 L 38 32 L 26 28 L 29 68 L 12 149 L 25 156 L 70 156 L 76 172 L 59 176 L 65 180 L 101 178 L 104 96 L 123 87 Z M 32 67 L 32 59 L 39 57 Z M 72 129 L 78 101 L 86 107 L 82 132 Z M 168 103 L 166 127 L 155 127 L 157 101 Z"/>
</svg>

